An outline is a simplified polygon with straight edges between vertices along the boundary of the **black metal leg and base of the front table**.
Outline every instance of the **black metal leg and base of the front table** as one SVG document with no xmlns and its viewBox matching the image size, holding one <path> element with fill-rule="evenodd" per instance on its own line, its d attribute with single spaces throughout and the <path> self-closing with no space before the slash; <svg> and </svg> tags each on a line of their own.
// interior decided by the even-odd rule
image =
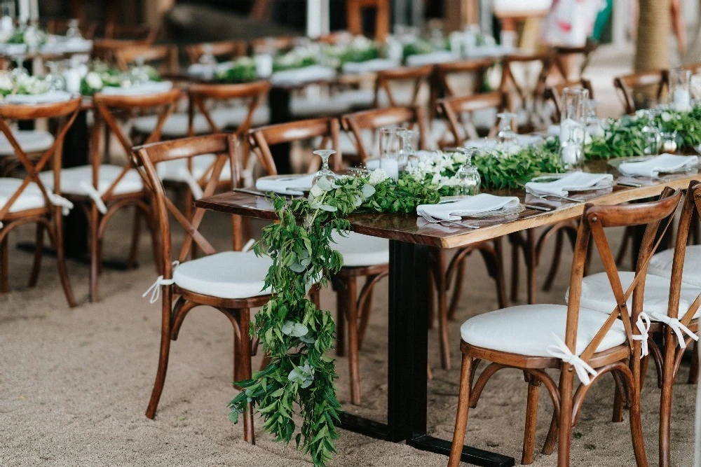
<svg viewBox="0 0 701 467">
<path fill-rule="evenodd" d="M 451 442 L 427 433 L 428 246 L 390 240 L 388 423 L 343 414 L 341 428 L 423 451 L 450 454 Z M 464 446 L 461 459 L 477 466 L 510 467 L 515 459 Z"/>
</svg>

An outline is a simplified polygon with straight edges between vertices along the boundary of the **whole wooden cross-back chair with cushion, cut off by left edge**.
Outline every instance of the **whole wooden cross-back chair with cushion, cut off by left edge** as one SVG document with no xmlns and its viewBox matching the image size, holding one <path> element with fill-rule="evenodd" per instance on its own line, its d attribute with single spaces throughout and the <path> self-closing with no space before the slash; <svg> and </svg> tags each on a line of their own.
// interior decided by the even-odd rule
<svg viewBox="0 0 701 467">
<path fill-rule="evenodd" d="M 72 99 L 57 104 L 34 104 L 0 106 L 0 132 L 4 134 L 26 175 L 24 179 L 0 178 L 0 293 L 9 291 L 9 242 L 8 235 L 25 224 L 36 224 L 34 263 L 29 277 L 29 287 L 36 285 L 41 267 L 44 231 L 48 232 L 56 249 L 58 275 L 68 305 L 76 306 L 66 269 L 63 248 L 62 214 L 72 204 L 61 196 L 61 160 L 63 140 L 73 124 L 81 106 L 81 99 Z M 30 158 L 15 139 L 11 120 L 57 120 L 55 139 L 46 151 Z M 50 170 L 40 172 L 45 167 Z"/>
</svg>

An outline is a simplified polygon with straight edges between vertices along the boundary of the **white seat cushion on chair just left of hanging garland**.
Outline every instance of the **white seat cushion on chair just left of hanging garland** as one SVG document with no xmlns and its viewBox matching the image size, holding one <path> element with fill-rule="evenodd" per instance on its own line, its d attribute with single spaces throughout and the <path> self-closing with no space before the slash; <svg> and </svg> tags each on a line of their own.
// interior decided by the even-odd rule
<svg viewBox="0 0 701 467">
<path fill-rule="evenodd" d="M 252 251 L 224 251 L 182 263 L 173 271 L 173 281 L 188 291 L 219 298 L 248 298 L 266 295 L 263 290 L 273 261 Z"/>
</svg>

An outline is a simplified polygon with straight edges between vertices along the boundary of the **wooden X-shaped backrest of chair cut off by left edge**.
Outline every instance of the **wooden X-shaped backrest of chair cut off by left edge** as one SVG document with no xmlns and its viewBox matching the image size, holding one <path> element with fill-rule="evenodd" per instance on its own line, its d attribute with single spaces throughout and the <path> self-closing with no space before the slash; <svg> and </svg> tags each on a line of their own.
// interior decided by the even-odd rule
<svg viewBox="0 0 701 467">
<path fill-rule="evenodd" d="M 63 140 L 69 127 L 71 127 L 73 124 L 80 107 L 81 99 L 72 99 L 68 102 L 60 102 L 55 104 L 5 104 L 0 106 L 0 132 L 4 134 L 13 147 L 15 151 L 15 158 L 20 161 L 22 168 L 27 173 L 15 192 L 8 196 L 8 200 L 3 206 L 0 206 L 0 221 L 4 221 L 7 218 L 12 218 L 13 216 L 26 214 L 13 213 L 11 211 L 13 204 L 15 204 L 20 195 L 27 190 L 29 183 L 36 184 L 39 190 L 41 190 L 41 196 L 43 196 L 46 203 L 46 207 L 37 209 L 36 214 L 50 211 L 50 207 L 55 204 L 53 202 L 53 200 L 55 200 L 53 195 L 60 196 L 61 194 L 60 171 Z M 55 119 L 58 121 L 58 125 L 53 144 L 51 144 L 46 151 L 43 151 L 41 155 L 33 155 L 33 157 L 30 158 L 29 155 L 22 150 L 22 147 L 18 143 L 17 139 L 15 139 L 15 134 L 11 130 L 10 122 L 12 120 L 36 120 L 37 118 Z M 53 170 L 54 183 L 53 192 L 47 190 L 46 186 L 44 186 L 39 178 L 39 172 L 41 172 L 41 169 L 46 167 L 49 161 L 52 162 L 51 168 Z M 56 209 L 60 208 L 57 207 Z"/>
</svg>

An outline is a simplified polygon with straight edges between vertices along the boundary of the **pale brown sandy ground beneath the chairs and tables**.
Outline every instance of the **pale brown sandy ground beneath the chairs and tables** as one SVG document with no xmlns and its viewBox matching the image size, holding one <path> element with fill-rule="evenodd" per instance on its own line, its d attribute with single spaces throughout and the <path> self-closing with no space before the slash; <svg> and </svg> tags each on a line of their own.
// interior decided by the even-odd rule
<svg viewBox="0 0 701 467">
<path fill-rule="evenodd" d="M 615 71 L 611 71 L 615 73 Z M 610 83 L 610 81 L 608 81 Z M 596 85 L 596 83 L 595 83 Z M 604 96 L 601 96 L 604 97 Z M 613 97 L 613 96 L 611 96 Z M 124 227 L 120 227 L 123 225 Z M 227 244 L 222 217 L 212 216 L 207 231 L 219 246 Z M 117 218 L 105 244 L 107 256 L 123 254 L 127 218 Z M 30 238 L 20 230 L 11 241 Z M 508 251 L 508 250 L 507 250 Z M 554 290 L 541 302 L 563 302 L 569 257 Z M 451 325 L 454 362 L 458 362 L 459 323 L 496 307 L 494 289 L 479 258 L 469 260 L 465 293 Z M 105 270 L 102 300 L 87 302 L 88 270 L 70 263 L 81 305 L 68 309 L 46 258 L 39 286 L 28 290 L 31 256 L 11 251 L 13 292 L 0 296 L 0 465 L 1 466 L 306 466 L 306 457 L 273 442 L 257 428 L 257 445 L 245 444 L 241 427 L 227 419 L 231 388 L 232 332 L 224 316 L 198 309 L 172 346 L 170 370 L 158 416 L 144 417 L 156 372 L 160 309 L 141 293 L 155 279 L 144 238 L 142 267 L 129 272 Z M 544 261 L 544 267 L 547 260 Z M 596 268 L 595 268 L 596 269 Z M 346 410 L 383 419 L 386 410 L 386 282 L 379 286 L 374 314 L 362 349 L 361 407 L 348 404 L 347 360 L 339 358 L 339 398 Z M 522 292 L 523 299 L 524 292 Z M 325 307 L 334 297 L 325 292 Z M 451 436 L 457 405 L 459 370 L 441 370 L 437 334 L 430 331 L 429 431 Z M 454 365 L 455 367 L 456 365 Z M 683 363 L 674 388 L 672 459 L 674 466 L 693 463 L 693 407 L 696 386 L 684 384 Z M 643 393 L 646 450 L 657 464 L 659 390 L 651 369 Z M 520 459 L 526 384 L 517 371 L 498 373 L 477 409 L 470 412 L 470 444 Z M 634 465 L 627 422 L 611 423 L 613 380 L 590 391 L 574 432 L 573 466 Z M 537 444 L 550 421 L 552 404 L 541 398 Z M 447 459 L 402 444 L 380 442 L 341 432 L 333 466 L 442 466 Z M 555 456 L 536 455 L 534 466 L 555 466 Z"/>
</svg>

